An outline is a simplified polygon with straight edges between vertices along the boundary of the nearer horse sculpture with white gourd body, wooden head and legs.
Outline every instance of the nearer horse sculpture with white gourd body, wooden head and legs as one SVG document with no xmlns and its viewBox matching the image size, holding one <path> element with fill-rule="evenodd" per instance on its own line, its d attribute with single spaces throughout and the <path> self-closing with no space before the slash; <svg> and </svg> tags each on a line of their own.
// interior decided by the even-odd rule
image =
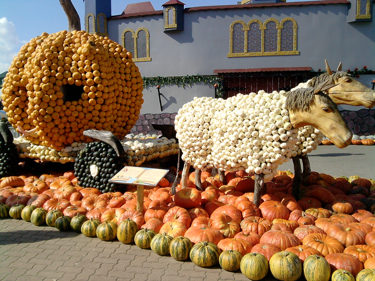
<svg viewBox="0 0 375 281">
<path fill-rule="evenodd" d="M 324 133 L 340 148 L 351 141 L 351 132 L 335 103 L 324 94 L 335 85 L 299 88 L 295 91 L 237 96 L 224 99 L 194 98 L 175 118 L 176 136 L 185 166 L 186 187 L 190 165 L 198 170 L 210 167 L 255 174 L 255 205 L 261 188 L 277 174 L 277 167 L 297 155 L 298 128 Z M 313 131 L 311 131 L 313 130 Z M 320 135 L 319 135 L 320 136 Z M 311 141 L 311 148 L 317 142 Z M 197 175 L 198 173 L 196 173 Z"/>
</svg>

